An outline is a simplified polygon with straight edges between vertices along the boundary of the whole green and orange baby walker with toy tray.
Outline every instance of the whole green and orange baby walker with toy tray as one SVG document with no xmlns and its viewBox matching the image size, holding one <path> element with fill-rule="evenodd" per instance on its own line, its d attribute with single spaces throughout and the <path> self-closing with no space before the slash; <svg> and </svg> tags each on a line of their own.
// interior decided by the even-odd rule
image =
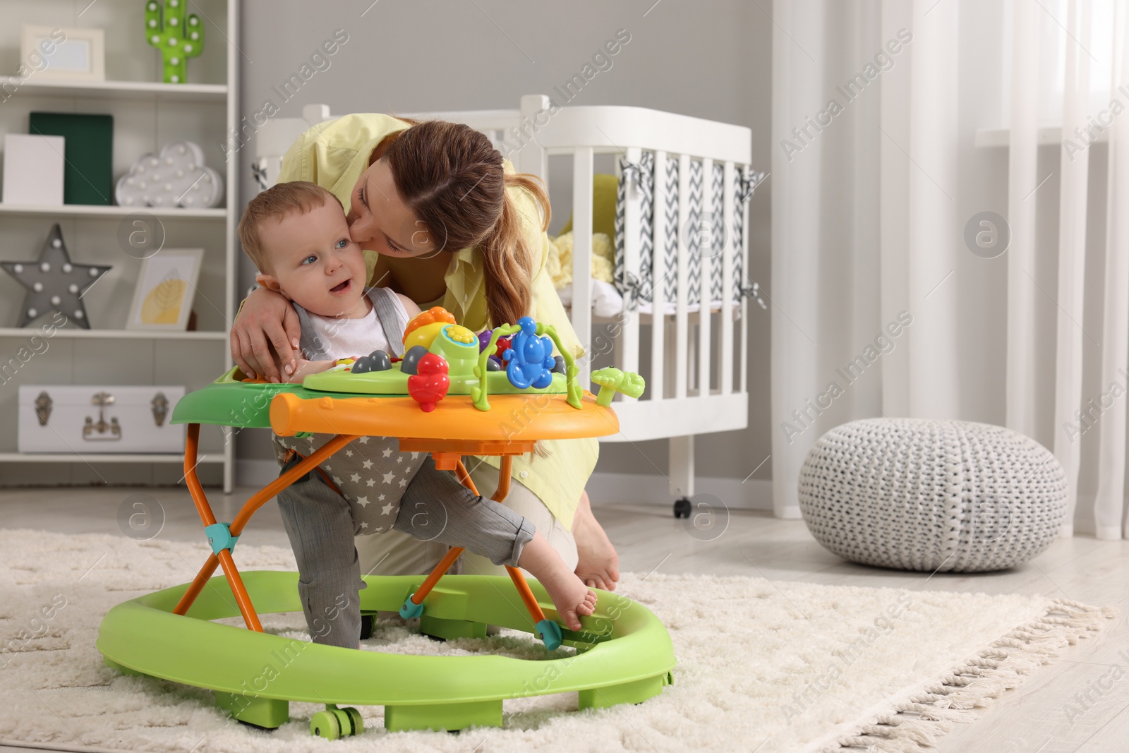
<svg viewBox="0 0 1129 753">
<path fill-rule="evenodd" d="M 605 708 L 642 702 L 673 682 L 671 638 L 642 605 L 601 592 L 595 614 L 581 618 L 583 629 L 574 632 L 554 621 L 540 584 L 526 583 L 516 568 L 507 568 L 514 588 L 501 577 L 444 577 L 458 548 L 426 578 L 365 577 L 362 614 L 399 610 L 419 618 L 423 633 L 444 639 L 484 637 L 485 627 L 497 624 L 535 633 L 549 650 L 564 645 L 576 654 L 537 662 L 404 656 L 263 632 L 259 614 L 301 611 L 298 573 L 240 573 L 233 559 L 239 534 L 255 510 L 353 439 L 397 437 L 402 452 L 431 453 L 439 469 L 455 471 L 472 490 L 462 456 L 500 456 L 493 499 L 501 501 L 514 455 L 532 452 L 540 439 L 615 434 L 612 396 L 638 397 L 644 389 L 639 375 L 607 368 L 593 374 L 598 396 L 583 392 L 553 327 L 530 317 L 475 335 L 437 307 L 409 323 L 404 345 L 402 360 L 384 351 L 342 359 L 300 386 L 246 380 L 233 369 L 176 404 L 173 422 L 189 424 L 185 481 L 212 554 L 191 584 L 106 614 L 97 648 L 108 666 L 211 689 L 226 712 L 269 729 L 289 720 L 290 701 L 324 703 L 310 732 L 329 738 L 364 732 L 360 713 L 342 708 L 347 703 L 384 706 L 390 730 L 456 730 L 500 727 L 502 699 L 578 691 L 581 709 Z M 492 409 L 501 409 L 500 418 Z M 195 473 L 201 423 L 336 436 L 253 494 L 231 523 L 219 523 Z M 212 577 L 217 567 L 224 575 Z M 212 622 L 236 615 L 246 629 Z"/>
</svg>

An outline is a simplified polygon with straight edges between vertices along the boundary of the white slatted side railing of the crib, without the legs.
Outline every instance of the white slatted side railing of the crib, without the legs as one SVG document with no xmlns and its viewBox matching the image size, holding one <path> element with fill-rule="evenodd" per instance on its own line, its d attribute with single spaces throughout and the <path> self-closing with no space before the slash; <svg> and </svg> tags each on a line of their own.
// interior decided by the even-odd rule
<svg viewBox="0 0 1129 753">
<path fill-rule="evenodd" d="M 531 99 L 531 98 L 525 98 Z M 523 111 L 533 107 L 523 99 Z M 531 103 L 532 104 L 532 103 Z M 540 103 L 549 107 L 548 97 Z M 646 399 L 632 404 L 616 403 L 622 432 L 606 440 L 642 440 L 680 437 L 709 431 L 743 429 L 747 426 L 747 300 L 735 301 L 735 256 L 742 257 L 741 269 L 747 270 L 747 243 L 734 233 L 735 170 L 751 160 L 752 138 L 747 128 L 706 121 L 698 117 L 645 110 L 641 107 L 590 106 L 566 107 L 554 115 L 542 117 L 544 125 L 536 130 L 537 143 L 546 156 L 572 156 L 572 325 L 586 347 L 590 345 L 592 308 L 588 296 L 592 259 L 592 202 L 594 158 L 597 154 L 619 154 L 616 169 L 623 164 L 638 166 L 645 150 L 655 156 L 654 176 L 666 175 L 666 160 L 679 160 L 676 216 L 667 216 L 664 192 L 669 186 L 655 178 L 656 201 L 651 238 L 653 280 L 651 314 L 625 310 L 619 323 L 615 342 L 616 366 L 639 370 L 640 338 L 649 325 L 650 358 Z M 701 160 L 702 217 L 692 222 L 690 217 L 691 160 Z M 721 164 L 724 192 L 723 217 L 708 217 L 714 207 L 715 184 L 711 180 L 715 163 Z M 542 177 L 546 177 L 542 174 Z M 639 190 L 639 181 L 648 180 L 633 170 L 628 191 Z M 630 198 L 630 196 L 629 196 Z M 747 234 L 747 204 L 741 203 L 741 235 Z M 623 218 L 624 269 L 628 277 L 639 279 L 640 217 L 634 201 L 627 202 Z M 724 231 L 716 233 L 715 224 L 723 222 Z M 669 227 L 671 224 L 675 227 Z M 663 249 L 668 233 L 677 238 L 677 282 L 675 312 L 664 314 L 665 275 L 668 273 Z M 690 298 L 690 260 L 695 244 L 701 273 L 700 308 L 697 314 L 688 310 Z M 719 236 L 719 237 L 718 237 Z M 718 244 L 720 239 L 720 244 Z M 720 247 L 718 247 L 720 245 Z M 721 297 L 718 310 L 711 313 L 710 281 L 715 264 L 721 265 Z M 743 286 L 742 286 L 743 287 Z M 628 296 L 629 305 L 631 296 Z M 735 316 L 735 314 L 737 316 Z M 715 319 L 719 329 L 715 333 Z M 739 322 L 739 338 L 734 336 L 735 319 Z M 736 365 L 736 368 L 735 368 Z M 735 377 L 736 371 L 736 378 Z M 585 378 L 587 375 L 584 375 Z M 671 384 L 673 382 L 673 384 Z M 672 449 L 672 457 L 674 450 Z"/>
</svg>

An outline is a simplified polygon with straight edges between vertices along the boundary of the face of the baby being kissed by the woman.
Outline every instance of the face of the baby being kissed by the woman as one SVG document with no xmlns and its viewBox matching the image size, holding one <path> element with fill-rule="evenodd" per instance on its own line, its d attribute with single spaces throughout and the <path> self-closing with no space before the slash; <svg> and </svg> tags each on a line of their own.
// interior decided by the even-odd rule
<svg viewBox="0 0 1129 753">
<path fill-rule="evenodd" d="M 365 257 L 349 237 L 341 204 L 326 199 L 305 214 L 268 220 L 260 228 L 280 291 L 321 316 L 364 316 Z"/>
</svg>

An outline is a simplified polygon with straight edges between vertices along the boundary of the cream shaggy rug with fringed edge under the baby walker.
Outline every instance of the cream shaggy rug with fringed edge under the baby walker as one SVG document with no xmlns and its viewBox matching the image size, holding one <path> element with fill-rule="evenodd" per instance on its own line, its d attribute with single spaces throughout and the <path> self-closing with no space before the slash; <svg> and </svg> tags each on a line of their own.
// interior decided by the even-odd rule
<svg viewBox="0 0 1129 753">
<path fill-rule="evenodd" d="M 584 712 L 575 693 L 517 699 L 506 702 L 505 728 L 460 734 L 391 734 L 380 707 L 360 707 L 365 734 L 327 742 L 308 732 L 324 707 L 291 703 L 291 720 L 263 732 L 226 719 L 210 691 L 103 664 L 102 615 L 191 580 L 207 553 L 202 542 L 0 531 L 0 743 L 185 753 L 917 751 L 1113 616 L 1045 597 L 628 575 L 622 593 L 654 611 L 674 641 L 674 685 L 662 695 Z M 295 569 L 288 550 L 271 546 L 240 545 L 236 560 L 245 570 Z M 263 622 L 308 639 L 300 614 Z M 550 656 L 522 633 L 444 645 L 393 622 L 366 643 Z"/>
</svg>

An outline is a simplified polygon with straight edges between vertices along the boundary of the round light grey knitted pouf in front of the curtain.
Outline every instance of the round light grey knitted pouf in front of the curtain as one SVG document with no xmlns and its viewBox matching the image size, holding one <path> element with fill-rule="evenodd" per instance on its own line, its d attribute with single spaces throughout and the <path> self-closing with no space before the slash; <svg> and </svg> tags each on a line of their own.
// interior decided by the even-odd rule
<svg viewBox="0 0 1129 753">
<path fill-rule="evenodd" d="M 1058 534 L 1066 492 L 1045 447 L 969 421 L 851 421 L 823 435 L 799 471 L 799 509 L 824 548 L 930 572 L 1030 560 Z"/>
</svg>

